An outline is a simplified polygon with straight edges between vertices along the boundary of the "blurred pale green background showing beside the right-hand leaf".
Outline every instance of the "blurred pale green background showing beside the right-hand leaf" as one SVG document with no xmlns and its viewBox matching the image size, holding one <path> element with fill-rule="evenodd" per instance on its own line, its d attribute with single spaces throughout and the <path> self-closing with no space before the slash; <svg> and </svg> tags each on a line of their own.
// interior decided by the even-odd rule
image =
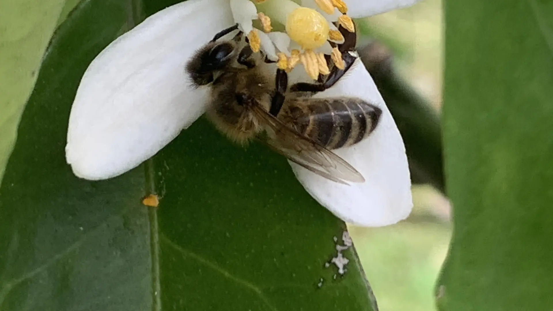
<svg viewBox="0 0 553 311">
<path fill-rule="evenodd" d="M 393 50 L 398 72 L 436 110 L 442 91 L 442 3 L 413 7 L 359 21 L 359 28 Z M 382 311 L 435 310 L 434 287 L 451 237 L 448 200 L 430 186 L 414 186 L 415 208 L 400 224 L 350 226 L 362 265 Z"/>
</svg>

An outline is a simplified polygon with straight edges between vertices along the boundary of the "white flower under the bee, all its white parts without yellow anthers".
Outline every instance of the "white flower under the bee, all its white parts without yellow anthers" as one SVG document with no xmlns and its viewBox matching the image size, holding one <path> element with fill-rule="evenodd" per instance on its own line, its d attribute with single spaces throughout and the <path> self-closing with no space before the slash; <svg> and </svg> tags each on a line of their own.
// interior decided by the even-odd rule
<svg viewBox="0 0 553 311">
<path fill-rule="evenodd" d="M 289 0 L 268 0 L 258 8 L 275 1 Z M 351 17 L 416 2 L 343 1 Z M 252 30 L 256 8 L 249 3 L 252 6 L 245 4 L 244 9 L 237 10 L 234 5 L 241 2 L 244 5 L 244 0 L 176 4 L 145 19 L 92 61 L 82 77 L 69 118 L 66 159 L 75 175 L 100 180 L 123 174 L 152 157 L 204 113 L 207 90 L 190 86 L 184 65 L 195 50 L 222 29 L 238 22 L 244 32 Z M 302 2 L 304 6 L 312 3 L 315 0 Z M 273 12 L 276 22 L 281 13 Z M 328 20 L 335 17 L 325 13 Z M 286 34 L 258 33 L 261 49 L 268 56 L 276 51 L 290 55 L 288 49 L 294 47 L 294 42 L 290 44 Z M 384 226 L 405 219 L 413 205 L 405 147 L 382 96 L 359 60 L 335 86 L 316 96 L 345 95 L 364 99 L 383 111 L 371 136 L 335 151 L 363 174 L 366 182 L 342 185 L 290 163 L 294 173 L 321 205 L 345 221 Z"/>
</svg>

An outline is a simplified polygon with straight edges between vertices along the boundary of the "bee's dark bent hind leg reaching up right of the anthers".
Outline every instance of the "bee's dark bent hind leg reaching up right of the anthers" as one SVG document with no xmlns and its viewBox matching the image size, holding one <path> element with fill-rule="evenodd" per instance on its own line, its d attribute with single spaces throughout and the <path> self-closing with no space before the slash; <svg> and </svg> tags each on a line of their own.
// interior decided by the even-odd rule
<svg viewBox="0 0 553 311">
<path fill-rule="evenodd" d="M 344 69 L 339 69 L 336 66 L 330 71 L 330 74 L 326 77 L 326 80 L 320 83 L 305 83 L 300 82 L 290 86 L 290 91 L 292 92 L 322 92 L 326 89 L 330 89 L 333 85 L 340 80 L 340 78 L 351 68 L 354 61 L 357 59 L 357 53 L 355 51 L 355 45 L 357 42 L 357 34 L 351 33 L 347 29 L 343 28 L 341 25 L 338 26 L 338 30 L 344 37 L 344 43 L 336 45 L 331 43 L 331 45 L 337 46 L 338 50 L 342 53 L 342 59 L 344 61 Z"/>
</svg>

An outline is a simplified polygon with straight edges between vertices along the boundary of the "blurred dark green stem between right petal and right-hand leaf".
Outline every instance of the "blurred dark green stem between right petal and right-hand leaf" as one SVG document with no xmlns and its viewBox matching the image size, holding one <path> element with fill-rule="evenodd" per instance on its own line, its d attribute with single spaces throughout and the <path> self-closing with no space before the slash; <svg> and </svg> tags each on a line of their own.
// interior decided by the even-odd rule
<svg viewBox="0 0 553 311">
<path fill-rule="evenodd" d="M 430 184 L 444 193 L 440 117 L 398 73 L 387 45 L 373 40 L 358 52 L 403 137 L 412 182 Z"/>
</svg>

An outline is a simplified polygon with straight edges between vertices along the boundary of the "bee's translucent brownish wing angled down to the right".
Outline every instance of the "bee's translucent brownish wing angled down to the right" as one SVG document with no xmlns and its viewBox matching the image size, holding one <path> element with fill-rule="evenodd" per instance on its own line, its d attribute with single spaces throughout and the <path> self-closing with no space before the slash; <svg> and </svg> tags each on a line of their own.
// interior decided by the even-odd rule
<svg viewBox="0 0 553 311">
<path fill-rule="evenodd" d="M 252 110 L 255 116 L 268 127 L 267 131 L 270 132 L 266 143 L 276 152 L 334 182 L 347 184 L 346 182 L 363 183 L 365 181 L 363 175 L 346 160 L 286 126 L 259 105 L 252 105 Z"/>
</svg>

